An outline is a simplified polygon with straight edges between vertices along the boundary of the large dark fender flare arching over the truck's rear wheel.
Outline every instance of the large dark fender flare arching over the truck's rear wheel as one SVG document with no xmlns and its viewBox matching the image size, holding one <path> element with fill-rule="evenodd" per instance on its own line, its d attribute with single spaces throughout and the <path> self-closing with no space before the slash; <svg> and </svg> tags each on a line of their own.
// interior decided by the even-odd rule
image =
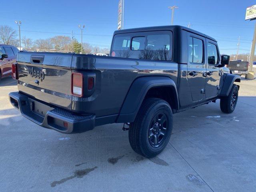
<svg viewBox="0 0 256 192">
<path fill-rule="evenodd" d="M 126 98 L 122 104 L 120 114 L 116 120 L 117 123 L 125 123 L 125 122 L 134 122 L 138 110 L 150 88 L 153 87 L 162 87 L 168 86 L 172 87 L 172 89 L 176 92 L 175 94 L 175 102 L 176 108 L 179 107 L 178 100 L 178 92 L 176 88 L 175 82 L 168 77 L 164 76 L 147 76 L 140 77 L 134 80 L 128 93 L 126 94 Z"/>
</svg>

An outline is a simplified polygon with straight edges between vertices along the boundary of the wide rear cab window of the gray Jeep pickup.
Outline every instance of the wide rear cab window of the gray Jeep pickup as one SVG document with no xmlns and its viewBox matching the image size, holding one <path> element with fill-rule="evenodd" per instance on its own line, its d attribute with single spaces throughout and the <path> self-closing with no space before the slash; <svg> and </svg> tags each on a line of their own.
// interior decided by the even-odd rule
<svg viewBox="0 0 256 192">
<path fill-rule="evenodd" d="M 142 60 L 172 60 L 171 31 L 116 34 L 111 56 Z"/>
</svg>

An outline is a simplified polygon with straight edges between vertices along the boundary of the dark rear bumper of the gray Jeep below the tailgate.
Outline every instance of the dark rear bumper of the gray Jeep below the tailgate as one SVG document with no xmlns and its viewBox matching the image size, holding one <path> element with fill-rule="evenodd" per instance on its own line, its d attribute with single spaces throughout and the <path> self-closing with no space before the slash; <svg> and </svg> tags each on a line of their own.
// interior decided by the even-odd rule
<svg viewBox="0 0 256 192">
<path fill-rule="evenodd" d="M 58 108 L 52 108 L 20 92 L 11 92 L 9 100 L 29 120 L 61 133 L 86 132 L 95 126 L 95 115 L 74 115 Z M 34 106 L 37 106 L 36 110 Z"/>
</svg>

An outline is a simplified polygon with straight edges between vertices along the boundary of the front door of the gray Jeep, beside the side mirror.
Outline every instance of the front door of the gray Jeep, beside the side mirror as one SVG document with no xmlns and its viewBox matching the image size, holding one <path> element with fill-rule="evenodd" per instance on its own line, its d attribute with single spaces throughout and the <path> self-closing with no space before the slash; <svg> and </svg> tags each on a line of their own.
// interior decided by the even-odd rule
<svg viewBox="0 0 256 192">
<path fill-rule="evenodd" d="M 220 62 L 220 54 L 216 42 L 206 40 L 207 52 L 207 78 L 205 87 L 205 96 L 207 99 L 214 98 L 220 90 L 221 68 L 216 67 Z"/>
</svg>

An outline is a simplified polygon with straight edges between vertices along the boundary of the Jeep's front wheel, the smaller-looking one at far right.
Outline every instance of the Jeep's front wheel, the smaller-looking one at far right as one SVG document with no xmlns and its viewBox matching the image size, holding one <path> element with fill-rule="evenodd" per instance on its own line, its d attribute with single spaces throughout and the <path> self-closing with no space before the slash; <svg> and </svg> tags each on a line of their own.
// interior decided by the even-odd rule
<svg viewBox="0 0 256 192">
<path fill-rule="evenodd" d="M 234 84 L 227 97 L 220 99 L 220 109 L 224 113 L 232 113 L 238 100 L 238 86 Z"/>
</svg>

